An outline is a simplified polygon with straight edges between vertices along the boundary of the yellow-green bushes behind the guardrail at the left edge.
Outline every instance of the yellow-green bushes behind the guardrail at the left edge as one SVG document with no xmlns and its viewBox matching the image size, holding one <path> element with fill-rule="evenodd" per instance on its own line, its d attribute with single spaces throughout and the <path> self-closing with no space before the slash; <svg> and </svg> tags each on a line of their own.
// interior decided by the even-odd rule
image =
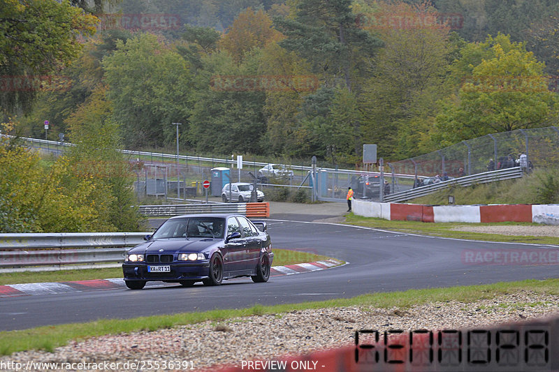
<svg viewBox="0 0 559 372">
<path fill-rule="evenodd" d="M 100 217 L 108 195 L 90 177 L 76 177 L 64 157 L 45 166 L 38 154 L 12 141 L 4 138 L 0 146 L 0 232 L 115 230 Z"/>
</svg>

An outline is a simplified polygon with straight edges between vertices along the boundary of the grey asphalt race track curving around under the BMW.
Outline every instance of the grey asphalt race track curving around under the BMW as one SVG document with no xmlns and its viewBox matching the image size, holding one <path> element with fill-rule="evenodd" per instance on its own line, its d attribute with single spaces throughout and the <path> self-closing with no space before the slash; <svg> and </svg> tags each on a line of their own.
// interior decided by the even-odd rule
<svg viewBox="0 0 559 372">
<path fill-rule="evenodd" d="M 488 243 L 356 228 L 332 223 L 268 220 L 273 248 L 303 249 L 349 262 L 333 269 L 270 278 L 198 283 L 144 290 L 101 290 L 0 299 L 0 329 L 134 318 L 215 308 L 245 308 L 354 297 L 369 292 L 557 278 L 557 265 L 465 265 L 463 252 L 547 249 L 551 246 Z M 553 247 L 555 248 L 555 247 Z"/>
</svg>

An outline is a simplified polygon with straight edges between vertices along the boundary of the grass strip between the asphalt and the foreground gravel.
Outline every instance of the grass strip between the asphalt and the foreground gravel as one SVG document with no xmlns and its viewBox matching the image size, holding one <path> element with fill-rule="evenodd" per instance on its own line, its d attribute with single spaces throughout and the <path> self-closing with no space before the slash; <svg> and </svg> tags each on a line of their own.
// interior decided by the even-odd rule
<svg viewBox="0 0 559 372">
<path fill-rule="evenodd" d="M 17 351 L 34 349 L 52 351 L 58 346 L 66 345 L 66 343 L 71 340 L 80 340 L 105 334 L 155 331 L 157 329 L 170 328 L 177 325 L 204 322 L 205 320 L 226 320 L 249 315 L 286 313 L 293 310 L 304 310 L 308 308 L 374 306 L 377 308 L 396 307 L 405 309 L 409 308 L 409 306 L 426 304 L 428 302 L 475 302 L 481 299 L 491 299 L 498 295 L 507 295 L 520 291 L 559 295 L 559 279 L 374 293 L 350 299 L 333 299 L 330 301 L 282 304 L 277 306 L 256 305 L 252 308 L 238 310 L 214 310 L 203 313 L 157 315 L 129 320 L 97 320 L 87 323 L 0 332 L 0 355 L 10 355 Z"/>
</svg>

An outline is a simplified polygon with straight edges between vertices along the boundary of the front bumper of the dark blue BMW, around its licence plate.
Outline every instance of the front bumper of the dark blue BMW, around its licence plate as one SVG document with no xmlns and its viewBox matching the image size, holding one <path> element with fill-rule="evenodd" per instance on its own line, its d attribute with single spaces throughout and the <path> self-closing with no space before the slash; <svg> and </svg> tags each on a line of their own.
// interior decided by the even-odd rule
<svg viewBox="0 0 559 372">
<path fill-rule="evenodd" d="M 148 272 L 150 266 L 170 266 L 170 272 Z M 122 273 L 125 281 L 184 281 L 208 278 L 210 260 L 196 262 L 173 262 L 169 264 L 147 264 L 124 262 Z"/>
</svg>

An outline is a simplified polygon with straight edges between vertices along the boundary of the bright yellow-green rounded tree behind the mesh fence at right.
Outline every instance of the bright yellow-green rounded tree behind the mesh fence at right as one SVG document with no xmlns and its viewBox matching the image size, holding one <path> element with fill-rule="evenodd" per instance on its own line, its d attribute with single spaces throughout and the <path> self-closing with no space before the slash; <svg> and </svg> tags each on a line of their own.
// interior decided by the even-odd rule
<svg viewBox="0 0 559 372">
<path fill-rule="evenodd" d="M 477 65 L 469 65 L 454 101 L 437 117 L 438 142 L 442 145 L 480 137 L 488 133 L 544 126 L 556 117 L 558 98 L 548 90 L 544 64 L 523 43 L 509 36 L 488 37 L 485 43 L 469 45 L 463 59 L 472 54 L 491 53 Z M 463 61 L 457 62 L 464 66 Z"/>
</svg>

